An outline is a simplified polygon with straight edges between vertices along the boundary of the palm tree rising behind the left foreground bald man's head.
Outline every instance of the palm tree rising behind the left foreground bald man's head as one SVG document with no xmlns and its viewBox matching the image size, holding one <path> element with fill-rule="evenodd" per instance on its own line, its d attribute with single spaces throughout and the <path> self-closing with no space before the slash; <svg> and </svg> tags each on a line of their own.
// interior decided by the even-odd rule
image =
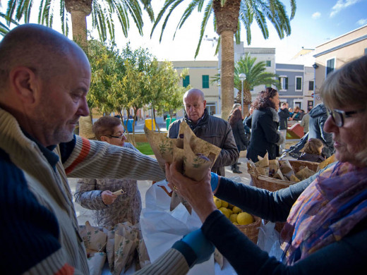
<svg viewBox="0 0 367 275">
<path fill-rule="evenodd" d="M 92 27 L 97 29 L 102 41 L 105 41 L 107 38 L 114 41 L 115 24 L 112 19 L 113 16 L 117 16 L 125 37 L 127 37 L 130 27 L 129 17 L 133 18 L 140 35 L 143 35 L 143 19 L 140 3 L 143 4 L 143 7 L 148 12 L 150 20 L 154 20 L 150 0 L 42 0 L 38 7 L 38 23 L 52 27 L 54 23 L 54 10 L 56 9 L 56 4 L 58 4 L 62 32 L 68 35 L 69 22 L 66 13 L 68 12 L 71 15 L 73 40 L 79 42 L 86 49 L 86 17 L 90 14 L 92 14 Z M 19 22 L 24 18 L 25 23 L 29 23 L 33 4 L 33 0 L 8 0 L 6 10 L 8 25 L 10 25 L 11 19 Z"/>
</svg>

